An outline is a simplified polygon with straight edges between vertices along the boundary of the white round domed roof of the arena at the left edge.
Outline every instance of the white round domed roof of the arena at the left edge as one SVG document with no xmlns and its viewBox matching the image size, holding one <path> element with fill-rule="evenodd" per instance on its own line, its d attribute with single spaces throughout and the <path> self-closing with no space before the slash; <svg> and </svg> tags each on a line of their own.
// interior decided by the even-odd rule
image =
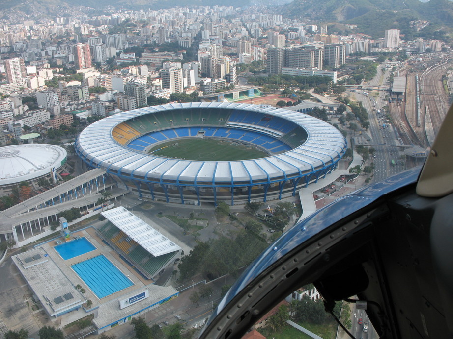
<svg viewBox="0 0 453 339">
<path fill-rule="evenodd" d="M 48 144 L 25 144 L 1 147 L 0 185 L 15 184 L 49 174 L 66 160 L 66 150 Z"/>
</svg>

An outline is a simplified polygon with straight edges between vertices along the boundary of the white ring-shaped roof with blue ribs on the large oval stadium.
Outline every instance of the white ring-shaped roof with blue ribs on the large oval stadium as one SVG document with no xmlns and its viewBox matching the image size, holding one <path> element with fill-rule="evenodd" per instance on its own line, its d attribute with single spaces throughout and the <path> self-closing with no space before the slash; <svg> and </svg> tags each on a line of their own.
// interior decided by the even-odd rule
<svg viewBox="0 0 453 339">
<path fill-rule="evenodd" d="M 112 136 L 113 128 L 121 122 L 146 114 L 184 108 L 255 111 L 292 121 L 303 127 L 308 136 L 303 145 L 285 153 L 254 160 L 218 162 L 159 157 L 120 145 Z M 338 129 L 327 122 L 287 109 L 247 103 L 189 102 L 138 108 L 96 121 L 80 134 L 77 147 L 80 156 L 93 166 L 133 173 L 148 180 L 192 181 L 211 185 L 213 182 L 250 182 L 252 179 L 266 180 L 311 172 L 338 159 L 346 147 L 346 140 Z"/>
</svg>

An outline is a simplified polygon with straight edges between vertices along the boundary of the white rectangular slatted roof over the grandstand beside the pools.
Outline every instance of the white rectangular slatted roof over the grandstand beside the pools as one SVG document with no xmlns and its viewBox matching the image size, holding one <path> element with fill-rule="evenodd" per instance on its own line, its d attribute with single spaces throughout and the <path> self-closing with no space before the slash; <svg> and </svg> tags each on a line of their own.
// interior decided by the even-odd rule
<svg viewBox="0 0 453 339">
<path fill-rule="evenodd" d="M 155 257 L 181 249 L 124 207 L 113 208 L 101 214 Z"/>
</svg>

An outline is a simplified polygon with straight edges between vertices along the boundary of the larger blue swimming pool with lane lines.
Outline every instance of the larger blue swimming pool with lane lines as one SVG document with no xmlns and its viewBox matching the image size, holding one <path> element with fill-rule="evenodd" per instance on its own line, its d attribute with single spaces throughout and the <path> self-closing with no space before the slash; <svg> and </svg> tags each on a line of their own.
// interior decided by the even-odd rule
<svg viewBox="0 0 453 339">
<path fill-rule="evenodd" d="M 99 299 L 134 285 L 102 254 L 71 267 Z"/>
</svg>

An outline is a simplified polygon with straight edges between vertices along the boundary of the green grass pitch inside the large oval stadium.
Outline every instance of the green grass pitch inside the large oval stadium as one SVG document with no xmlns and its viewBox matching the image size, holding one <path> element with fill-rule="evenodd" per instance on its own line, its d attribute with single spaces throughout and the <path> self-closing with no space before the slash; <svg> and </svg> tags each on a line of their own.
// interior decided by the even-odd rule
<svg viewBox="0 0 453 339">
<path fill-rule="evenodd" d="M 199 161 L 234 161 L 269 156 L 254 146 L 219 139 L 179 139 L 177 145 L 174 144 L 176 142 L 173 140 L 158 145 L 152 148 L 150 153 L 169 158 Z"/>
</svg>

